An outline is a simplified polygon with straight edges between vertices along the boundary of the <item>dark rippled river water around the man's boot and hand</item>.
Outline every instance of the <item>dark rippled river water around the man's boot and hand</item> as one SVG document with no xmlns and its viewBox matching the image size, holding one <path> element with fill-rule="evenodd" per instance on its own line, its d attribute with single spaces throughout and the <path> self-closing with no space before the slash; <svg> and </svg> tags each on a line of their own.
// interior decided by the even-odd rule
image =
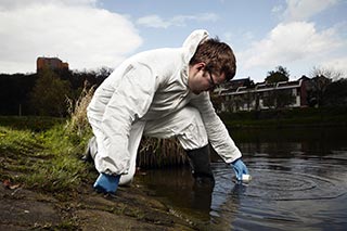
<svg viewBox="0 0 347 231">
<path fill-rule="evenodd" d="M 200 230 L 347 230 L 347 128 L 230 131 L 253 180 L 211 156 L 216 184 L 196 188 L 189 167 L 141 178 Z"/>
</svg>

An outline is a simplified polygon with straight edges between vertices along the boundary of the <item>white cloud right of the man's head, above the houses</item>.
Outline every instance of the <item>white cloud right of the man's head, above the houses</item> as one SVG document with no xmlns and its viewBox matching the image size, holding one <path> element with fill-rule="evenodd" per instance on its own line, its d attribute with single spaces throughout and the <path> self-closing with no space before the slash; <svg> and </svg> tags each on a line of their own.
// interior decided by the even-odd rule
<svg viewBox="0 0 347 231">
<path fill-rule="evenodd" d="M 327 59 L 331 51 L 344 46 L 336 31 L 317 31 L 313 23 L 282 23 L 262 40 L 240 54 L 245 68 L 277 66 L 309 59 Z"/>
</svg>

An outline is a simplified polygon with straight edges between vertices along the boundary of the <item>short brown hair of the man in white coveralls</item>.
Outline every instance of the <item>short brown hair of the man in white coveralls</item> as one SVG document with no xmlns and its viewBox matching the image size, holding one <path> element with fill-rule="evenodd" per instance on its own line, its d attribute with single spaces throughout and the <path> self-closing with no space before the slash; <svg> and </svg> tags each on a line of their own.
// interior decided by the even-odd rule
<svg viewBox="0 0 347 231">
<path fill-rule="evenodd" d="M 232 49 L 218 38 L 210 38 L 197 46 L 197 49 L 189 62 L 190 65 L 204 62 L 205 69 L 224 74 L 226 81 L 232 79 L 236 73 L 236 59 Z"/>
</svg>

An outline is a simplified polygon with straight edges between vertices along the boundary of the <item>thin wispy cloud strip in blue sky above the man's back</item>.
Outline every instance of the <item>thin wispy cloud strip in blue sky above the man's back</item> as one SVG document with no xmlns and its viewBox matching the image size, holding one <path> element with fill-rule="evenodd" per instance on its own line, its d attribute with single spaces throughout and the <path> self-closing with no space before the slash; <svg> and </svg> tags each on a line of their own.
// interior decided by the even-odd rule
<svg viewBox="0 0 347 231">
<path fill-rule="evenodd" d="M 164 20 L 160 16 L 153 14 L 140 17 L 137 21 L 137 24 L 153 28 L 168 28 L 170 26 L 185 26 L 188 21 L 216 22 L 217 20 L 218 15 L 214 13 L 204 13 L 196 15 L 177 15 L 168 20 Z"/>
</svg>

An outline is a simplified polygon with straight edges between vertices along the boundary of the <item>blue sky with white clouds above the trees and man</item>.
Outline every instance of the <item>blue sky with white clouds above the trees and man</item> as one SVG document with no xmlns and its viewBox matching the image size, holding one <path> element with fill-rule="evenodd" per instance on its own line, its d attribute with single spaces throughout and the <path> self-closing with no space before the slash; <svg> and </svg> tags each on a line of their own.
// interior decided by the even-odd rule
<svg viewBox="0 0 347 231">
<path fill-rule="evenodd" d="M 0 73 L 35 73 L 38 56 L 115 68 L 194 29 L 233 49 L 235 79 L 260 82 L 280 65 L 291 80 L 313 68 L 347 77 L 347 0 L 0 0 Z"/>
</svg>

